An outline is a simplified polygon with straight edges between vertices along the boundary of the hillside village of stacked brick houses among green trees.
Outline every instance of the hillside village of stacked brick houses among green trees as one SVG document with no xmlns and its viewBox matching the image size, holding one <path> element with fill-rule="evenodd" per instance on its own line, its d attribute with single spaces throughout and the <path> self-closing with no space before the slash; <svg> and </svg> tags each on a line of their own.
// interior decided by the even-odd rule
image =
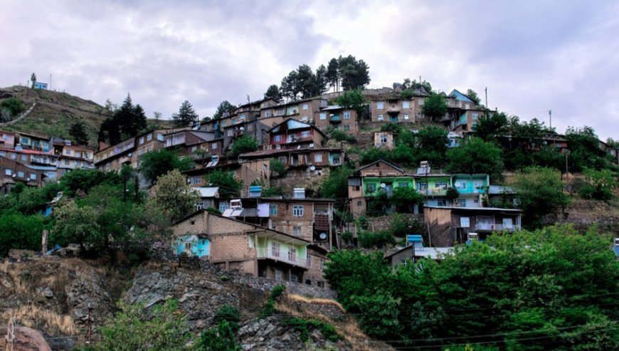
<svg viewBox="0 0 619 351">
<path fill-rule="evenodd" d="M 438 115 L 424 108 L 436 99 L 445 105 Z M 492 130 L 492 123 L 502 119 L 502 126 Z M 441 261 L 497 232 L 515 235 L 556 223 L 587 229 L 591 219 L 579 217 L 578 208 L 568 209 L 568 197 L 578 194 L 584 194 L 578 204 L 604 209 L 600 229 L 619 237 L 618 143 L 602 142 L 586 128 L 561 135 L 537 120 L 509 120 L 456 89 L 437 93 L 413 82 L 297 100 L 265 98 L 186 125 L 151 121 L 117 143 L 101 130 L 96 147 L 92 134 L 76 142 L 67 135 L 3 126 L 0 193 L 6 199 L 0 207 L 3 214 L 12 213 L 8 209 L 17 205 L 9 202 L 26 201 L 20 197 L 29 194 L 24 189 L 48 189 L 18 211 L 67 221 L 60 226 L 42 219 L 36 226 L 50 234 L 44 246 L 52 251 L 70 243 L 82 251 L 89 245 L 133 247 L 143 240 L 135 241 L 134 228 L 159 237 L 165 230 L 159 231 L 158 220 L 166 217 L 171 220 L 161 224 L 169 226 L 162 236 L 166 241 L 157 245 L 179 260 L 195 257 L 221 272 L 337 290 L 340 284 L 324 274 L 334 252 L 379 252 L 396 271 L 411 260 Z M 593 149 L 583 147 L 591 140 Z M 504 155 L 502 161 L 492 159 L 495 150 Z M 157 163 L 157 157 L 169 154 L 174 162 Z M 583 189 L 596 187 L 605 169 L 612 170 L 613 185 L 585 194 Z M 519 184 L 522 179 L 534 183 L 536 174 L 559 184 L 559 202 L 537 209 L 524 199 Z M 168 182 L 175 182 L 176 194 L 157 200 Z M 610 195 L 594 195 L 602 190 Z M 101 200 L 110 192 L 119 201 L 110 216 L 133 213 L 129 203 L 144 206 L 144 213 L 112 229 L 96 214 L 112 204 Z M 190 206 L 181 209 L 175 199 Z M 149 207 L 151 200 L 162 212 Z M 76 206 L 93 212 L 81 213 Z M 104 239 L 84 234 L 89 218 L 101 228 L 110 226 L 109 233 L 102 230 Z M 82 231 L 75 229 L 79 223 Z M 18 258 L 17 249 L 41 251 L 40 239 L 1 248 Z M 608 251 L 619 259 L 619 241 L 609 241 Z"/>
</svg>

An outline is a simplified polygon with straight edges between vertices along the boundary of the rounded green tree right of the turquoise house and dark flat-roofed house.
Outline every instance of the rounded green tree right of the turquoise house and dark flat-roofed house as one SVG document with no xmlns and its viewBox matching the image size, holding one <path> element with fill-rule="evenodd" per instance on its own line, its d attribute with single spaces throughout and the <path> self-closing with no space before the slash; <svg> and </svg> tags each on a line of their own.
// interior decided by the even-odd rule
<svg viewBox="0 0 619 351">
<path fill-rule="evenodd" d="M 556 169 L 529 167 L 514 180 L 519 208 L 524 211 L 524 224 L 539 228 L 543 218 L 558 209 L 565 209 L 569 199 L 563 192 L 561 174 Z"/>
</svg>

